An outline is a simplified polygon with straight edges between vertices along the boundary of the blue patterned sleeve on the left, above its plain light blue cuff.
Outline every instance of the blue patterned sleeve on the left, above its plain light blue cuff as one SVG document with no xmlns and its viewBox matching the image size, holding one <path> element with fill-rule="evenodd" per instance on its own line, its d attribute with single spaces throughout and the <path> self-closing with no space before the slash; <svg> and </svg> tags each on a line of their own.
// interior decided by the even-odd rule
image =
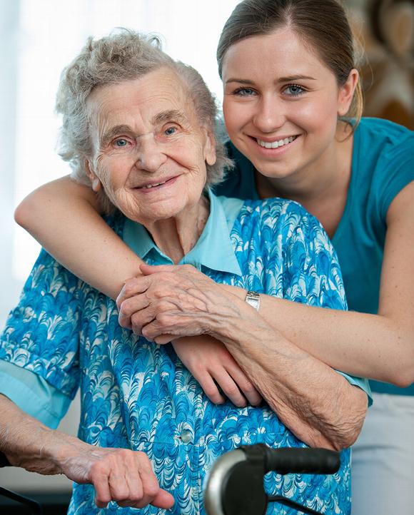
<svg viewBox="0 0 414 515">
<path fill-rule="evenodd" d="M 41 250 L 0 337 L 0 359 L 74 398 L 79 384 L 81 306 L 86 285 Z"/>
</svg>

